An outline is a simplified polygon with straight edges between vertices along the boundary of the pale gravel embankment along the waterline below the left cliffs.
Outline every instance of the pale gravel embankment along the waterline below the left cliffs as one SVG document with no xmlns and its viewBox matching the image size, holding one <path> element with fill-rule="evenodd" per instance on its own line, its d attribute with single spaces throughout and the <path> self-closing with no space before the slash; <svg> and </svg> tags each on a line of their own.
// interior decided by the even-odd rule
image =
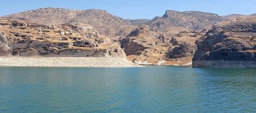
<svg viewBox="0 0 256 113">
<path fill-rule="evenodd" d="M 124 58 L 0 56 L 0 67 L 143 67 Z"/>
</svg>

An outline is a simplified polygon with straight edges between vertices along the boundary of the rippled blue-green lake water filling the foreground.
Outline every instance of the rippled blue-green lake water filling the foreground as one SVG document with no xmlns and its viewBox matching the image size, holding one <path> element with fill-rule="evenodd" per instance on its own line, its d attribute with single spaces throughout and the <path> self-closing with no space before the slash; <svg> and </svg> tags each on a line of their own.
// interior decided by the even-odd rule
<svg viewBox="0 0 256 113">
<path fill-rule="evenodd" d="M 0 112 L 256 112 L 256 69 L 0 68 Z"/>
</svg>

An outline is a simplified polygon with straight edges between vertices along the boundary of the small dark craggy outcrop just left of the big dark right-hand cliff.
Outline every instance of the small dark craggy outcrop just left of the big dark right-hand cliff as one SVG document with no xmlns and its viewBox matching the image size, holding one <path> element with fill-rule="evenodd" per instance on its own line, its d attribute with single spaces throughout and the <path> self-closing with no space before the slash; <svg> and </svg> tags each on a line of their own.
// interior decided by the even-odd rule
<svg viewBox="0 0 256 113">
<path fill-rule="evenodd" d="M 170 41 L 171 46 L 168 49 L 167 58 L 180 58 L 184 56 L 193 56 L 197 47 L 190 42 L 179 42 L 175 38 Z"/>
</svg>

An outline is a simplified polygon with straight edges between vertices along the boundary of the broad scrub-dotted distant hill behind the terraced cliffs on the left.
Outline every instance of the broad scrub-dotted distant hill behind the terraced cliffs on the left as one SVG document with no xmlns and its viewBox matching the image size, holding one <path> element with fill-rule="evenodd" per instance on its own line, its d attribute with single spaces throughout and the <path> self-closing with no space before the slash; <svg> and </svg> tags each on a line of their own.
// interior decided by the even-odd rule
<svg viewBox="0 0 256 113">
<path fill-rule="evenodd" d="M 39 8 L 3 16 L 6 19 L 27 20 L 39 24 L 92 25 L 105 36 L 119 36 L 130 32 L 129 21 L 109 14 L 105 10 L 70 10 L 65 8 Z M 128 29 L 128 30 L 127 30 Z M 127 30 L 127 32 L 126 32 Z"/>
</svg>

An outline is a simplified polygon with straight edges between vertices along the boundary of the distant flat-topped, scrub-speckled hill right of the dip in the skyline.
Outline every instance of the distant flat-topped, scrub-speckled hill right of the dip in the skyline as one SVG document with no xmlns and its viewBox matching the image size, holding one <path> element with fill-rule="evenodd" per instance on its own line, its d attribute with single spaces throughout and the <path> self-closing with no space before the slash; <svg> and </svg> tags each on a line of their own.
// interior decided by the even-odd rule
<svg viewBox="0 0 256 113">
<path fill-rule="evenodd" d="M 208 12 L 167 10 L 162 17 L 150 20 L 149 26 L 153 31 L 201 31 L 210 29 L 220 21 L 223 21 L 221 16 Z"/>
</svg>

